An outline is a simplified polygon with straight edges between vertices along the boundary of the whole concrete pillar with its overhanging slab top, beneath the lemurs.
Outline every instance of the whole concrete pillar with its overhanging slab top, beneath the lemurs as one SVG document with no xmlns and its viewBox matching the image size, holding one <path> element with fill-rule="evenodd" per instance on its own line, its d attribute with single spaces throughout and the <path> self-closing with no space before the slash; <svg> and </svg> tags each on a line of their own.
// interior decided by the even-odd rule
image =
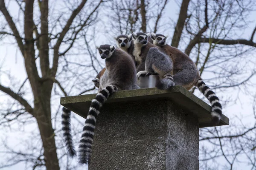
<svg viewBox="0 0 256 170">
<path fill-rule="evenodd" d="M 86 117 L 96 94 L 61 98 Z M 170 91 L 118 91 L 96 122 L 89 170 L 198 170 L 199 128 L 211 124 L 211 107 L 181 86 Z M 222 115 L 219 125 L 228 125 Z"/>
</svg>

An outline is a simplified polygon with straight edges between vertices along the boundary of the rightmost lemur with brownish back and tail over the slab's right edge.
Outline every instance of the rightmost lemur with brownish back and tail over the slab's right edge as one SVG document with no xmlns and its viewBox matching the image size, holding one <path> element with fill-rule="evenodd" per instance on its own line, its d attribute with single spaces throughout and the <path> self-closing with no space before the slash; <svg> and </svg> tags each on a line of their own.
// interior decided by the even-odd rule
<svg viewBox="0 0 256 170">
<path fill-rule="evenodd" d="M 166 36 L 162 34 L 152 33 L 151 39 L 153 40 L 154 45 L 161 47 L 166 51 L 166 54 L 172 58 L 174 64 L 173 79 L 175 85 L 182 85 L 187 90 L 190 90 L 193 86 L 198 87 L 199 91 L 201 91 L 201 93 L 209 100 L 212 106 L 212 121 L 217 124 L 221 119 L 222 106 L 215 93 L 201 79 L 198 69 L 192 59 L 177 48 L 166 44 Z"/>
</svg>

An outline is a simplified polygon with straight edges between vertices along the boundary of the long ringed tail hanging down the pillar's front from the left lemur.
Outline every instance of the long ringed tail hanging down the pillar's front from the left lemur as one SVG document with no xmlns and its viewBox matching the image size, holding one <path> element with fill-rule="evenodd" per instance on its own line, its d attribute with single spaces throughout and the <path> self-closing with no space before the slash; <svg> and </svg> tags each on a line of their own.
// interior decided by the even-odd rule
<svg viewBox="0 0 256 170">
<path fill-rule="evenodd" d="M 79 163 L 81 164 L 90 163 L 96 118 L 99 116 L 99 111 L 103 103 L 107 101 L 108 97 L 115 91 L 117 91 L 117 87 L 115 85 L 109 85 L 99 91 L 96 98 L 92 100 L 79 142 Z"/>
</svg>

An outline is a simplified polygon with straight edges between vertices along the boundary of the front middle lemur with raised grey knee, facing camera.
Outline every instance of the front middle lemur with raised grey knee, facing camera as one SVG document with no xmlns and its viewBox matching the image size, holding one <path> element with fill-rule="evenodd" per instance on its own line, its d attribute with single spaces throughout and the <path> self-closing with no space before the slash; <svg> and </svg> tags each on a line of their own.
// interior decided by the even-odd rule
<svg viewBox="0 0 256 170">
<path fill-rule="evenodd" d="M 139 63 L 137 78 L 145 74 L 158 74 L 159 80 L 156 87 L 168 90 L 174 85 L 172 78 L 173 63 L 169 56 L 161 52 L 157 46 L 147 41 L 147 34 L 132 33 L 134 40 L 134 56 Z"/>
</svg>

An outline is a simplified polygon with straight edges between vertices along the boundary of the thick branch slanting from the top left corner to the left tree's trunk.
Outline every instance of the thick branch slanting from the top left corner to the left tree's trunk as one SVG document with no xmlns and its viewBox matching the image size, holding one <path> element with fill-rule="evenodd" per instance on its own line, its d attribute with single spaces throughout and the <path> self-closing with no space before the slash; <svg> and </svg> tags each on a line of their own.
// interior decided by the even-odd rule
<svg viewBox="0 0 256 170">
<path fill-rule="evenodd" d="M 9 27 L 12 29 L 13 35 L 15 36 L 17 44 L 20 48 L 21 54 L 24 56 L 24 44 L 22 42 L 22 38 L 20 37 L 20 34 L 17 30 L 15 23 L 12 20 L 12 17 L 10 16 L 9 12 L 6 9 L 4 0 L 0 0 L 0 11 L 3 13 Z"/>
</svg>

